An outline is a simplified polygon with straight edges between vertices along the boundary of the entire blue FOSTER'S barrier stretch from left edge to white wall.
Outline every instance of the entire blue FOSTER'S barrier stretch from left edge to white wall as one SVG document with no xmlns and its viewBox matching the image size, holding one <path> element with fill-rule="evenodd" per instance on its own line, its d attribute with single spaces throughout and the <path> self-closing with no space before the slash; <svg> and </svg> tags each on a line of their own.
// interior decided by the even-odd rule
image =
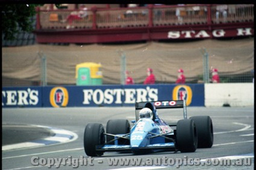
<svg viewBox="0 0 256 170">
<path fill-rule="evenodd" d="M 2 107 L 135 106 L 139 101 L 186 100 L 204 106 L 204 84 L 2 87 Z"/>
</svg>

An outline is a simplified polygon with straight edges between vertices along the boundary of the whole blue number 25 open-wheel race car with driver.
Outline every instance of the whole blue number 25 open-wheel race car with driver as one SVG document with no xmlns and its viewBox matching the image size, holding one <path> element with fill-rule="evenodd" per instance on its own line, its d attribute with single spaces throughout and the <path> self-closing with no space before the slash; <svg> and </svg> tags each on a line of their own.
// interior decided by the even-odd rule
<svg viewBox="0 0 256 170">
<path fill-rule="evenodd" d="M 167 124 L 159 118 L 156 109 L 183 108 L 183 117 L 177 123 Z M 88 156 L 101 156 L 104 152 L 180 151 L 195 152 L 197 148 L 211 148 L 214 141 L 209 116 L 187 118 L 186 102 L 136 102 L 136 120 L 111 119 L 106 124 L 90 123 L 84 130 L 84 151 Z"/>
</svg>

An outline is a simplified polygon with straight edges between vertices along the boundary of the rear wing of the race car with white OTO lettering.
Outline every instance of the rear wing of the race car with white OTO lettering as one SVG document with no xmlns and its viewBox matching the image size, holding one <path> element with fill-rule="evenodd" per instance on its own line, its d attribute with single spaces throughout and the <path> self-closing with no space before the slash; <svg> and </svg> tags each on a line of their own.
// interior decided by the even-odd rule
<svg viewBox="0 0 256 170">
<path fill-rule="evenodd" d="M 136 102 L 135 111 L 143 109 L 148 102 Z M 156 109 L 183 108 L 183 117 L 187 118 L 186 100 L 150 102 Z M 136 114 L 137 119 L 137 114 Z"/>
</svg>

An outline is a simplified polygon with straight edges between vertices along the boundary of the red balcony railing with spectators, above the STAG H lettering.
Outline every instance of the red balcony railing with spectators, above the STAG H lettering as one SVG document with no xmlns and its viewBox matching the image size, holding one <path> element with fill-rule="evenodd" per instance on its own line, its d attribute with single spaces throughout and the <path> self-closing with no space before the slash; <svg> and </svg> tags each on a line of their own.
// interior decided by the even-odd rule
<svg viewBox="0 0 256 170">
<path fill-rule="evenodd" d="M 105 29 L 253 22 L 254 5 L 184 5 L 39 10 L 37 30 Z"/>
</svg>

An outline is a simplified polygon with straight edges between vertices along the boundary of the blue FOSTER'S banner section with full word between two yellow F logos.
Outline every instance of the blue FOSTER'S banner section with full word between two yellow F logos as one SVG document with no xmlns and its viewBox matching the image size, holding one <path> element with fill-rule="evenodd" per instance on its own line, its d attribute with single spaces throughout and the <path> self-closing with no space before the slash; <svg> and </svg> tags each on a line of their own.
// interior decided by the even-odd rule
<svg viewBox="0 0 256 170">
<path fill-rule="evenodd" d="M 204 84 L 48 86 L 43 93 L 44 107 L 134 106 L 184 99 L 187 106 L 204 106 Z"/>
</svg>

